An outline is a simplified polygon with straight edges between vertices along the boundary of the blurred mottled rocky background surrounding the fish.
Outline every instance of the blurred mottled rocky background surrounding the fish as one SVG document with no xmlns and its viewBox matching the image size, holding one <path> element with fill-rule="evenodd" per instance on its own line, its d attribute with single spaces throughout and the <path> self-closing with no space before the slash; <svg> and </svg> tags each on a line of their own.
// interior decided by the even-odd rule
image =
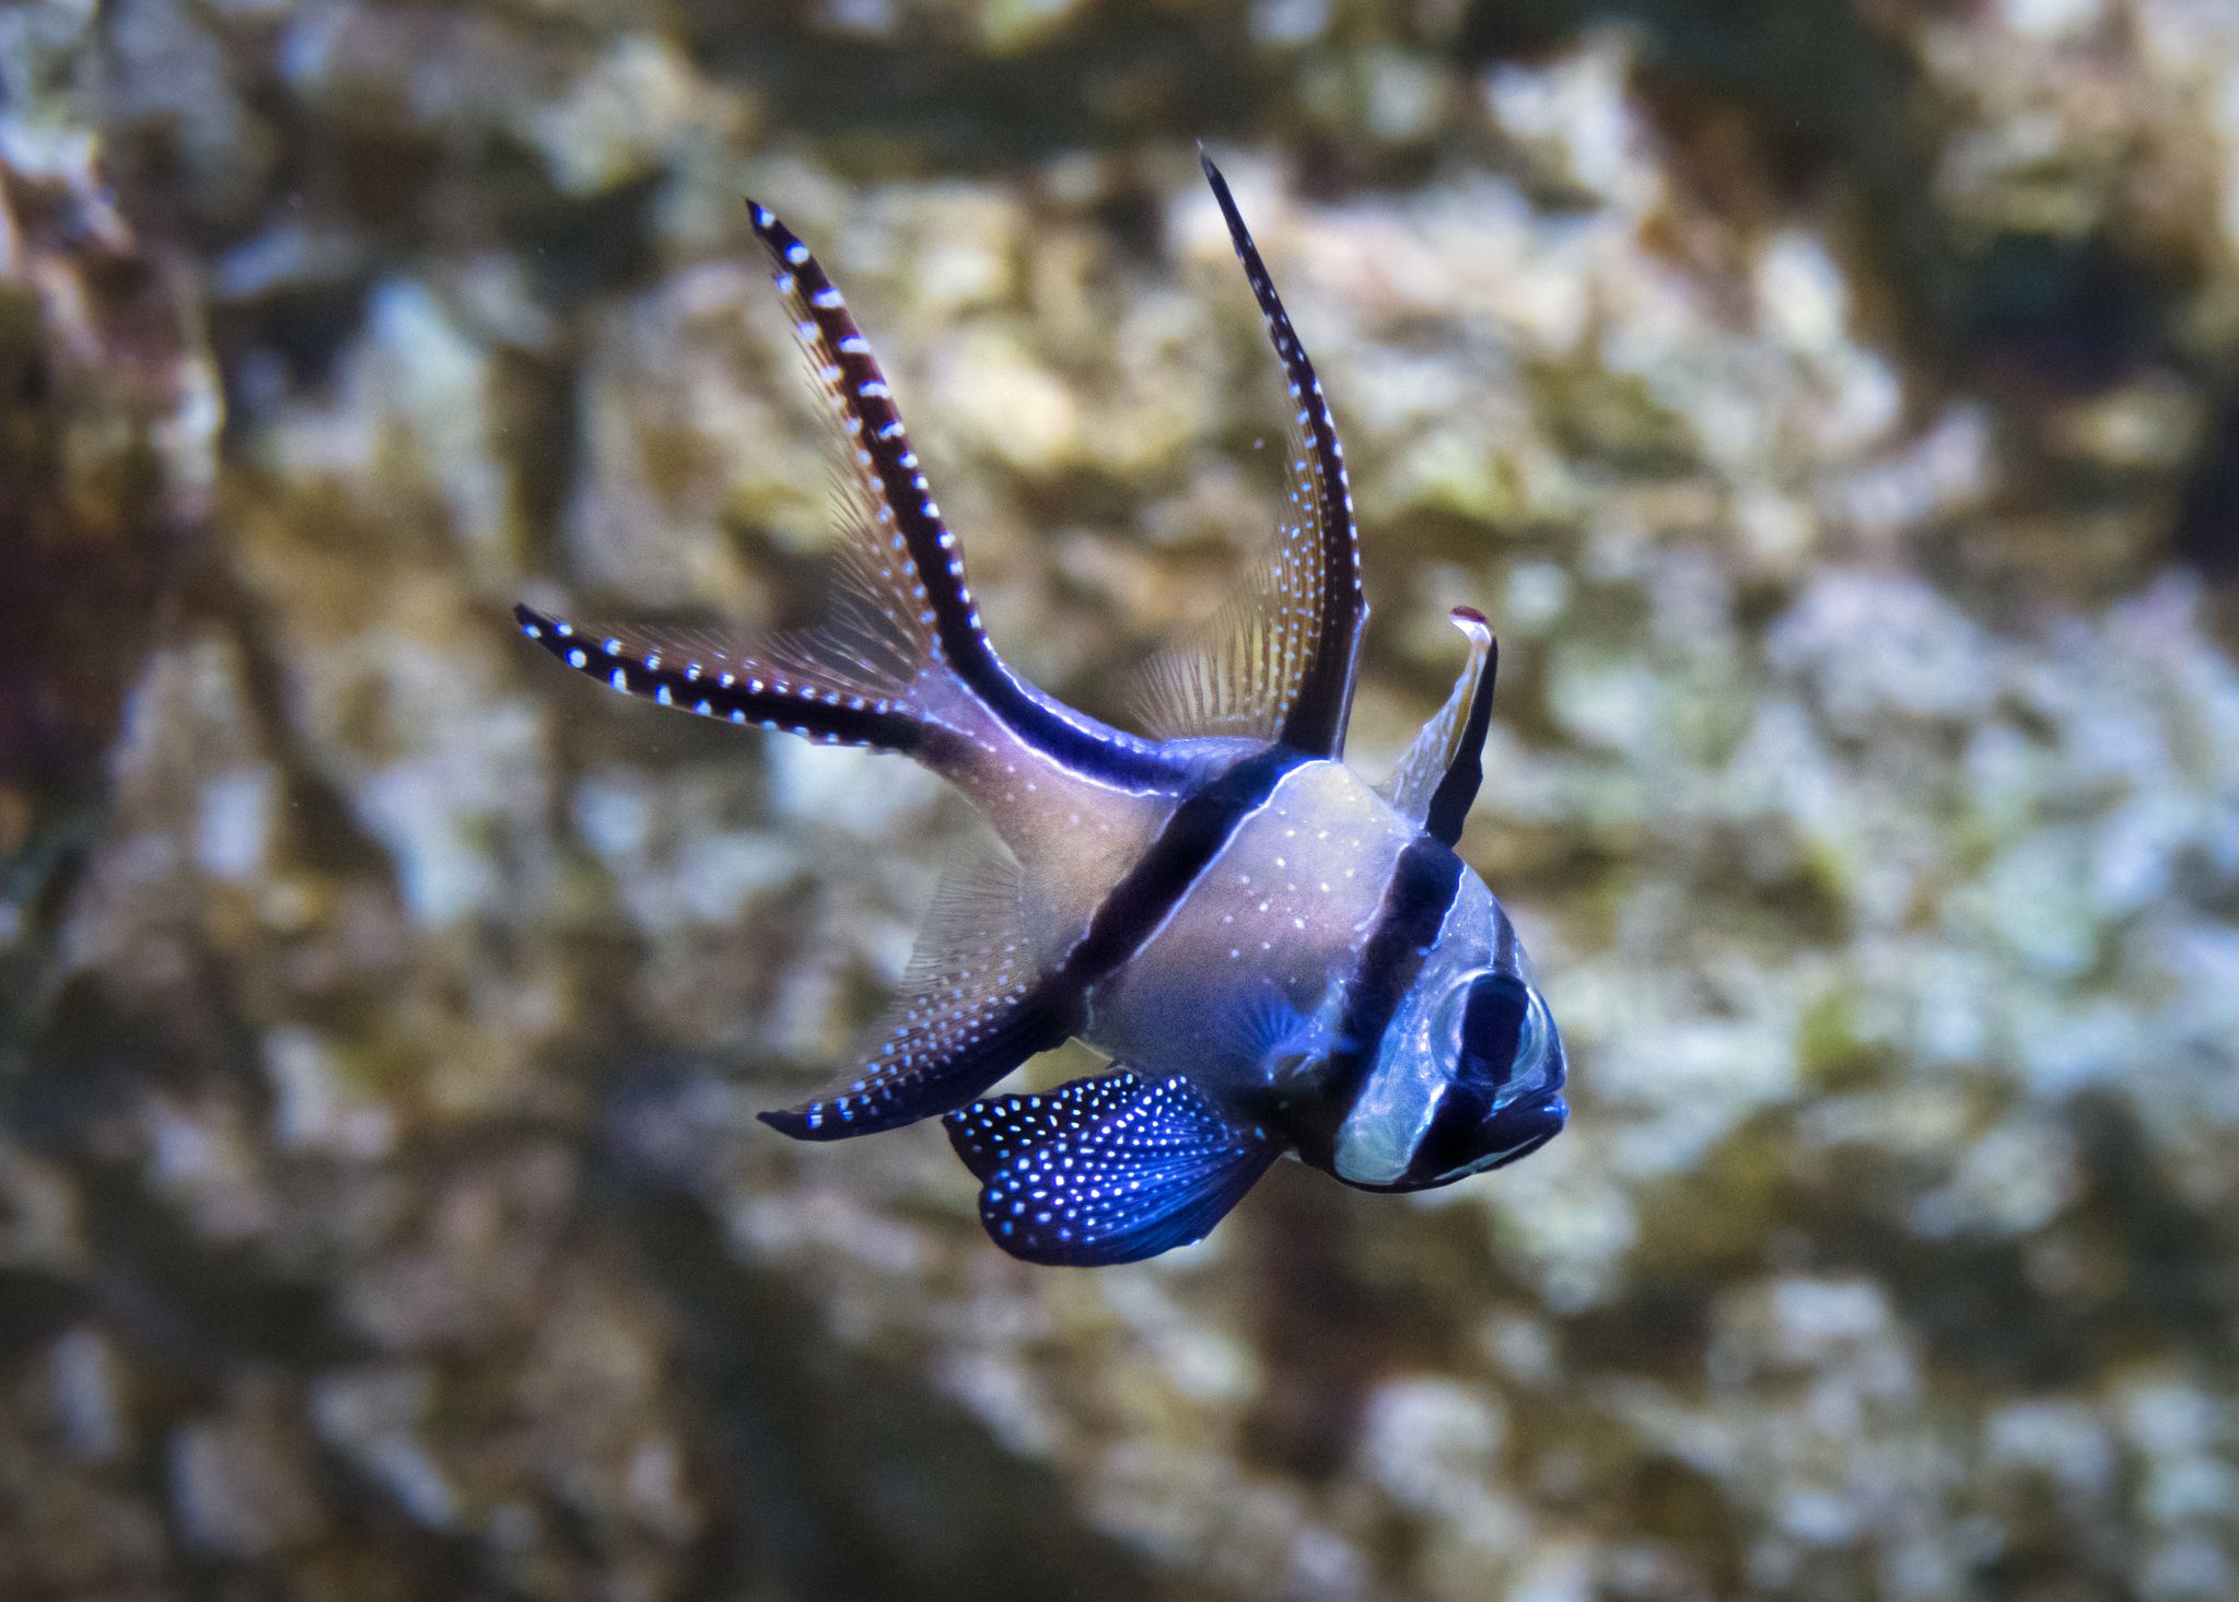
<svg viewBox="0 0 2239 1602">
<path fill-rule="evenodd" d="M 1117 716 L 1276 517 L 1196 139 L 1572 1125 L 1048 1271 L 752 1123 L 963 805 L 508 609 L 815 609 L 752 192 Z M 2235 644 L 2228 0 L 0 4 L 0 1602 L 2232 1598 Z"/>
</svg>

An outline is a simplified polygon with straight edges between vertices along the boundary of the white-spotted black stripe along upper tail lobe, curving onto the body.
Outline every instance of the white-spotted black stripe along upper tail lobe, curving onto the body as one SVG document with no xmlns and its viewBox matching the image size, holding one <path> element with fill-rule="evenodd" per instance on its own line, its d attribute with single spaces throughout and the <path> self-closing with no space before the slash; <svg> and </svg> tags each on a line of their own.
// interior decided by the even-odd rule
<svg viewBox="0 0 2239 1602">
<path fill-rule="evenodd" d="M 918 463 L 900 407 L 871 345 L 849 315 L 831 275 L 799 237 L 768 208 L 748 201 L 755 237 L 777 266 L 777 289 L 815 324 L 828 360 L 819 380 L 844 407 L 846 432 L 884 499 L 882 524 L 909 553 L 922 582 L 927 622 L 940 656 L 1003 723 L 1068 767 L 1117 785 L 1160 785 L 1182 776 L 1175 758 L 1155 743 L 1122 734 L 1023 682 L 987 642 L 978 604 L 965 582 L 963 548 L 940 519 Z M 884 528 L 880 533 L 887 533 Z"/>
</svg>

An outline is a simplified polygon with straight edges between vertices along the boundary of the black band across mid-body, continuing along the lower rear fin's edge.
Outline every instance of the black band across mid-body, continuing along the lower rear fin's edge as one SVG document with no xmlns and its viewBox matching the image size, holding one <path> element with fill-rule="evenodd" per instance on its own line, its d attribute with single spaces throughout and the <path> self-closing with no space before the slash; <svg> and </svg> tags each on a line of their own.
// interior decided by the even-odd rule
<svg viewBox="0 0 2239 1602">
<path fill-rule="evenodd" d="M 1037 1052 L 1048 1052 L 1088 1023 L 1088 991 L 1124 967 L 1189 895 L 1205 868 L 1243 823 L 1258 812 L 1287 772 L 1310 761 L 1272 745 L 1229 767 L 1182 801 L 1142 859 L 1104 897 L 1072 949 L 936 1076 L 922 1099 L 862 1094 L 811 1101 L 759 1114 L 799 1141 L 842 1141 L 949 1112 L 978 1096 Z"/>
</svg>

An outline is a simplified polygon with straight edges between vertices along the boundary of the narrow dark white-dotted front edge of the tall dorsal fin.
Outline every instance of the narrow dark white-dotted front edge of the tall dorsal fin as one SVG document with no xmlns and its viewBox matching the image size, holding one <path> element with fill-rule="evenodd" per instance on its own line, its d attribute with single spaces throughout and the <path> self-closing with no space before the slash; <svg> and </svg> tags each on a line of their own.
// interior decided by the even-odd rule
<svg viewBox="0 0 2239 1602">
<path fill-rule="evenodd" d="M 1202 150 L 1198 161 L 1205 179 L 1220 201 L 1220 217 L 1229 224 L 1229 242 L 1236 260 L 1245 264 L 1252 280 L 1252 295 L 1258 300 L 1261 318 L 1267 320 L 1267 336 L 1274 354 L 1283 360 L 1283 376 L 1290 380 L 1290 400 L 1299 436 L 1308 450 L 1308 477 L 1312 479 L 1314 515 L 1321 530 L 1319 586 L 1314 600 L 1314 656 L 1299 680 L 1299 694 L 1283 716 L 1276 738 L 1285 745 L 1312 752 L 1314 756 L 1346 754 L 1346 723 L 1352 716 L 1352 676 L 1361 649 L 1361 626 L 1368 622 L 1368 600 L 1361 593 L 1361 546 L 1352 526 L 1352 481 L 1346 474 L 1346 447 L 1337 441 L 1337 423 L 1323 400 L 1314 362 L 1305 356 L 1283 300 L 1274 293 L 1274 280 L 1261 262 L 1252 230 L 1245 228 L 1229 181 Z"/>
</svg>

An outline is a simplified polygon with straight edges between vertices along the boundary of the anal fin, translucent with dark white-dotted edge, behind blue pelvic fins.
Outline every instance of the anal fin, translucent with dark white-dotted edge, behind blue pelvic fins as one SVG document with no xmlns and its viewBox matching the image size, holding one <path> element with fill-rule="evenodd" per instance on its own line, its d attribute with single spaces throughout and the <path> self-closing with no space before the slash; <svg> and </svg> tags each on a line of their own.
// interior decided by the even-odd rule
<svg viewBox="0 0 2239 1602">
<path fill-rule="evenodd" d="M 1046 964 L 1021 922 L 1010 859 L 952 868 L 853 1081 L 761 1121 L 797 1141 L 875 1134 L 963 1105 L 1061 1045 L 1077 1018 L 1041 984 Z"/>
</svg>

